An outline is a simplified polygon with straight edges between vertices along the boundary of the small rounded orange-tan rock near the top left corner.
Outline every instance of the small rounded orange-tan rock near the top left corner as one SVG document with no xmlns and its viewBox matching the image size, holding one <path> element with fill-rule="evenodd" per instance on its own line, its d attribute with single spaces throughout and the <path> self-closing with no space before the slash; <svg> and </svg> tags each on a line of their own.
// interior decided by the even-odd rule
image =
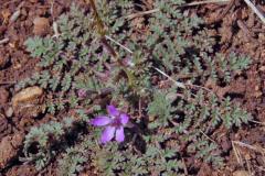
<svg viewBox="0 0 265 176">
<path fill-rule="evenodd" d="M 35 35 L 45 35 L 50 28 L 49 19 L 46 18 L 35 18 L 33 24 L 33 33 Z"/>
</svg>

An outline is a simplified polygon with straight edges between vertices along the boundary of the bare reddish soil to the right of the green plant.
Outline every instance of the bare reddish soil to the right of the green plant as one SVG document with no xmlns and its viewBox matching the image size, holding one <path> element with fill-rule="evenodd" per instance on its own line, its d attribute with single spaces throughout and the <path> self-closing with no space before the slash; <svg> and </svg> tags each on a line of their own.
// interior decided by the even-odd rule
<svg viewBox="0 0 265 176">
<path fill-rule="evenodd" d="M 258 6 L 259 9 L 265 9 Z M 218 143 L 224 151 L 227 151 L 229 161 L 223 170 L 212 172 L 208 165 L 202 165 L 199 175 L 264 175 L 264 122 L 265 122 L 265 28 L 261 20 L 240 1 L 220 7 L 208 4 L 198 8 L 197 12 L 202 15 L 209 25 L 214 25 L 216 35 L 220 36 L 221 51 L 227 52 L 233 48 L 250 55 L 253 59 L 251 68 L 241 73 L 230 86 L 216 87 L 218 95 L 230 95 L 234 101 L 241 102 L 243 107 L 254 116 L 254 121 L 230 134 L 230 138 L 222 138 L 223 133 L 216 133 Z M 258 30 L 257 30 L 258 29 Z M 261 122 L 261 123 L 259 123 Z M 235 142 L 232 142 L 235 141 Z M 243 143 L 237 143 L 239 141 Z M 239 157 L 242 157 L 239 160 Z"/>
</svg>

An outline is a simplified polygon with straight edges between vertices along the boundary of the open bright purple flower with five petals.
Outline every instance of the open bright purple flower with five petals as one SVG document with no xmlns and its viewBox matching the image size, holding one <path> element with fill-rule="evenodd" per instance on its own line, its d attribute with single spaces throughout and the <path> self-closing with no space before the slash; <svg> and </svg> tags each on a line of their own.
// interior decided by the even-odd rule
<svg viewBox="0 0 265 176">
<path fill-rule="evenodd" d="M 106 144 L 115 138 L 117 142 L 125 140 L 124 128 L 129 121 L 126 113 L 120 112 L 114 106 L 107 106 L 108 116 L 98 116 L 91 121 L 95 127 L 105 127 L 100 141 Z"/>
</svg>

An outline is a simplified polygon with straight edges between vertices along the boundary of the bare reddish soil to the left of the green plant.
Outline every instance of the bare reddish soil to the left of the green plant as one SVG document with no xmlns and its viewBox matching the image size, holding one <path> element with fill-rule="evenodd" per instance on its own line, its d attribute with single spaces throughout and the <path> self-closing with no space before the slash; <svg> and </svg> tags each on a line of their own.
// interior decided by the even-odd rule
<svg viewBox="0 0 265 176">
<path fill-rule="evenodd" d="M 0 175 L 38 175 L 34 166 L 23 165 L 19 162 L 19 156 L 23 136 L 30 127 L 46 122 L 50 117 L 36 120 L 15 113 L 10 109 L 11 99 L 15 92 L 14 84 L 39 69 L 38 59 L 30 57 L 23 43 L 30 36 L 52 34 L 53 20 L 68 11 L 70 6 L 71 0 L 1 1 L 0 41 L 8 41 L 0 44 Z M 53 175 L 51 170 L 55 169 L 50 169 L 49 175 Z"/>
</svg>

